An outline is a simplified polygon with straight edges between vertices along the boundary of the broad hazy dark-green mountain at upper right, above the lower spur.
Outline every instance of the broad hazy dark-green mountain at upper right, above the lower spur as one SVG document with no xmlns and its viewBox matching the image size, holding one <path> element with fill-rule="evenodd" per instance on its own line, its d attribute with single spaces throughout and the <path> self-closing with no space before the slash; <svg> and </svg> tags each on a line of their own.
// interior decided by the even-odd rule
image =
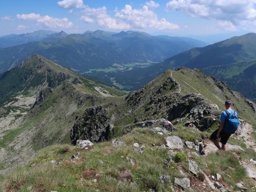
<svg viewBox="0 0 256 192">
<path fill-rule="evenodd" d="M 189 68 L 206 68 L 235 62 L 255 60 L 256 34 L 248 33 L 208 45 L 194 48 L 165 60 L 162 66 L 186 66 Z M 170 68 L 169 67 L 169 68 Z"/>
</svg>

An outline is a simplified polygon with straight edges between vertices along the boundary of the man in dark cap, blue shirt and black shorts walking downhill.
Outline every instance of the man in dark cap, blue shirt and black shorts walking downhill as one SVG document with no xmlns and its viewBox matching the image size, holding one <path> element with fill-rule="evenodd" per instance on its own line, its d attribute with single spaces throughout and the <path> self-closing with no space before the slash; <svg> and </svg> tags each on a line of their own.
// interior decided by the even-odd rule
<svg viewBox="0 0 256 192">
<path fill-rule="evenodd" d="M 239 121 L 237 117 L 237 113 L 232 110 L 232 101 L 226 100 L 225 102 L 226 111 L 223 111 L 220 116 L 220 127 L 215 130 L 212 135 L 210 136 L 210 140 L 214 143 L 214 145 L 219 150 L 226 150 L 226 143 L 228 138 L 236 132 L 237 127 L 239 126 Z M 220 147 L 219 142 L 217 141 L 218 138 L 222 143 Z"/>
</svg>

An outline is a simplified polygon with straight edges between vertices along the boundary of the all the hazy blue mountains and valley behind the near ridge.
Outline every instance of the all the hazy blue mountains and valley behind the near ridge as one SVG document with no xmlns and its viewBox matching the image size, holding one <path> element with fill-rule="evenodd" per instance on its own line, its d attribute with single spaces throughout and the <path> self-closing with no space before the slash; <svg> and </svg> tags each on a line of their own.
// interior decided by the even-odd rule
<svg viewBox="0 0 256 192">
<path fill-rule="evenodd" d="M 134 31 L 115 33 L 96 30 L 70 35 L 64 31 L 50 33 L 52 32 L 37 31 L 19 35 L 20 38 L 30 37 L 29 40 L 37 37 L 38 41 L 1 48 L 0 72 L 9 70 L 31 54 L 38 53 L 74 71 L 86 72 L 86 76 L 92 80 L 131 91 L 139 89 L 165 70 L 186 66 L 199 68 L 206 74 L 216 76 L 232 89 L 256 101 L 254 74 L 249 74 L 251 70 L 242 63 L 256 60 L 256 34 L 254 33 L 235 36 L 208 46 L 205 46 L 204 42 L 191 38 L 152 36 Z M 44 38 L 40 40 L 43 37 L 42 34 Z M 17 36 L 4 37 L 0 40 L 15 37 Z M 226 64 L 237 62 L 240 64 L 234 66 L 245 65 L 245 67 L 240 67 L 232 75 L 229 70 L 226 70 L 227 77 L 224 78 L 224 72 L 218 71 L 232 66 L 224 67 Z M 208 68 L 210 66 L 218 67 L 210 70 Z M 230 79 L 234 75 L 236 75 L 237 84 L 232 83 L 233 78 Z M 242 86 L 243 84 L 245 86 Z"/>
</svg>

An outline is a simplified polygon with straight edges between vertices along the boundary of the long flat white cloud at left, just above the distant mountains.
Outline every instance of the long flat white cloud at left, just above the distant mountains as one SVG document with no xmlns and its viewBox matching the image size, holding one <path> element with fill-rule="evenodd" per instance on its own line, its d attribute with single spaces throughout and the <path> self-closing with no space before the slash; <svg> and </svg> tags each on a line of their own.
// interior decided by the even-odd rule
<svg viewBox="0 0 256 192">
<path fill-rule="evenodd" d="M 37 25 L 43 26 L 45 28 L 70 28 L 73 26 L 71 21 L 68 21 L 68 18 L 52 18 L 48 15 L 40 16 L 40 14 L 18 14 L 16 17 L 20 20 L 34 20 L 37 22 Z"/>
</svg>

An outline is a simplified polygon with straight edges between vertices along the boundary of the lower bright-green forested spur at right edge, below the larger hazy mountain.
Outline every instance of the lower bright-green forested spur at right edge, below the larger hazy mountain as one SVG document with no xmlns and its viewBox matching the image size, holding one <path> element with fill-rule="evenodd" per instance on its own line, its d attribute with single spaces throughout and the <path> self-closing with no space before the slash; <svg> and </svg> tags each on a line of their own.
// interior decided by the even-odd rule
<svg viewBox="0 0 256 192">
<path fill-rule="evenodd" d="M 205 74 L 224 81 L 232 90 L 256 102 L 256 62 L 241 62 L 203 68 Z"/>
</svg>

